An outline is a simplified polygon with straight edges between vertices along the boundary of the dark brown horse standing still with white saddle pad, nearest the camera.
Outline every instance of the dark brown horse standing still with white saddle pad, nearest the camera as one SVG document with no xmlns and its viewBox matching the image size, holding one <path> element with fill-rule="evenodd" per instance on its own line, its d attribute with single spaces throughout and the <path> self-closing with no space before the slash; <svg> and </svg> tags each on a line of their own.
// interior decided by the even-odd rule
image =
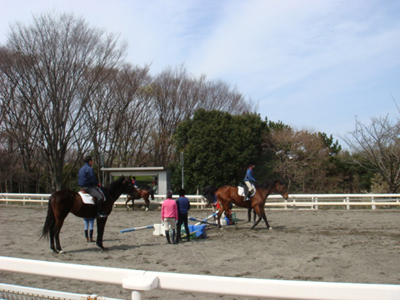
<svg viewBox="0 0 400 300">
<path fill-rule="evenodd" d="M 103 212 L 109 215 L 113 209 L 114 202 L 122 193 L 131 193 L 133 184 L 129 178 L 121 177 L 111 182 L 103 189 L 107 200 L 103 203 Z M 63 253 L 60 244 L 60 231 L 65 218 L 69 213 L 80 218 L 95 218 L 97 216 L 94 204 L 85 204 L 79 193 L 63 190 L 57 191 L 50 196 L 46 221 L 42 230 L 42 237 L 50 236 L 50 249 L 57 253 Z M 103 234 L 107 218 L 97 218 L 97 241 L 96 245 L 103 247 Z"/>
</svg>

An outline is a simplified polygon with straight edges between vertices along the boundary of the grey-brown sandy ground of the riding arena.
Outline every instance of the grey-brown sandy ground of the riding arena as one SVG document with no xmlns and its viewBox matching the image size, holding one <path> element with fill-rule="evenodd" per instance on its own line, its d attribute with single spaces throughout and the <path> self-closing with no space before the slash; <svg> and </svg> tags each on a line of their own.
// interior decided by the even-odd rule
<svg viewBox="0 0 400 300">
<path fill-rule="evenodd" d="M 84 238 L 83 220 L 69 215 L 61 231 L 66 254 L 54 254 L 39 239 L 47 205 L 0 205 L 0 256 L 136 270 L 231 277 L 400 284 L 398 210 L 268 210 L 274 230 L 264 223 L 251 230 L 246 212 L 234 210 L 239 224 L 208 226 L 207 238 L 168 245 L 153 229 L 121 229 L 160 223 L 160 210 L 116 208 L 108 218 L 100 251 Z M 205 218 L 210 210 L 189 214 Z M 194 224 L 194 222 L 190 222 Z M 130 299 L 114 285 L 0 272 L 2 283 Z M 182 282 L 184 285 L 185 283 Z M 144 299 L 249 299 L 224 295 L 153 290 Z"/>
</svg>

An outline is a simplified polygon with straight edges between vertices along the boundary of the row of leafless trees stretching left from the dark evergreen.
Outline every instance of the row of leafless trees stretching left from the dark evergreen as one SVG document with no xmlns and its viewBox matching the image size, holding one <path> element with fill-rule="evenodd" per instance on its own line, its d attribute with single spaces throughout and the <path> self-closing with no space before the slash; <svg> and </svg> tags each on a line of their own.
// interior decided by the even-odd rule
<svg viewBox="0 0 400 300">
<path fill-rule="evenodd" d="M 256 109 L 184 66 L 151 76 L 125 62 L 125 51 L 73 15 L 11 27 L 0 49 L 2 191 L 70 187 L 87 153 L 108 167 L 167 166 L 176 126 L 196 109 Z"/>
</svg>

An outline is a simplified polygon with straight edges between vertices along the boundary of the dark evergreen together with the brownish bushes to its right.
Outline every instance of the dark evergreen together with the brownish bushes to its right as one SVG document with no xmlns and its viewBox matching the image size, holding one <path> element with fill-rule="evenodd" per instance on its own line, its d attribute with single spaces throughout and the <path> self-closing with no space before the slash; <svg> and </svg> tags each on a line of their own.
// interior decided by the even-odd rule
<svg viewBox="0 0 400 300">
<path fill-rule="evenodd" d="M 354 193 L 370 189 L 371 174 L 350 162 L 348 153 L 324 133 L 296 131 L 256 114 L 197 110 L 177 127 L 176 155 L 183 153 L 184 186 L 243 182 L 249 164 L 259 184 L 283 180 L 292 193 Z M 346 152 L 344 152 L 346 153 Z M 177 160 L 176 160 L 177 161 Z M 174 186 L 181 184 L 175 163 Z"/>
</svg>

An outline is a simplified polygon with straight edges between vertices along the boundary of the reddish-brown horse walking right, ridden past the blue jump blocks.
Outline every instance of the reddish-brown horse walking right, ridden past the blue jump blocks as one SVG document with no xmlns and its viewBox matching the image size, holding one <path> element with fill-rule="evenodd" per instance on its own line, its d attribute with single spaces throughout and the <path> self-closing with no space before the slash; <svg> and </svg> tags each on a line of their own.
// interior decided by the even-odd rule
<svg viewBox="0 0 400 300">
<path fill-rule="evenodd" d="M 229 206 L 233 203 L 240 207 L 246 207 L 249 217 L 252 209 L 258 215 L 258 220 L 254 222 L 251 229 L 254 229 L 254 227 L 260 223 L 261 219 L 265 221 L 267 229 L 271 229 L 265 214 L 265 201 L 267 197 L 274 192 L 280 194 L 284 199 L 288 199 L 289 197 L 286 187 L 279 180 L 268 183 L 265 187 L 257 188 L 255 195 L 249 201 L 244 201 L 244 196 L 238 194 L 238 188 L 236 186 L 225 185 L 217 189 L 215 195 L 217 196 L 217 201 L 220 203 L 217 216 L 218 226 L 221 228 L 220 219 L 223 211 L 225 211 L 225 215 L 232 221 L 229 213 Z"/>
</svg>

